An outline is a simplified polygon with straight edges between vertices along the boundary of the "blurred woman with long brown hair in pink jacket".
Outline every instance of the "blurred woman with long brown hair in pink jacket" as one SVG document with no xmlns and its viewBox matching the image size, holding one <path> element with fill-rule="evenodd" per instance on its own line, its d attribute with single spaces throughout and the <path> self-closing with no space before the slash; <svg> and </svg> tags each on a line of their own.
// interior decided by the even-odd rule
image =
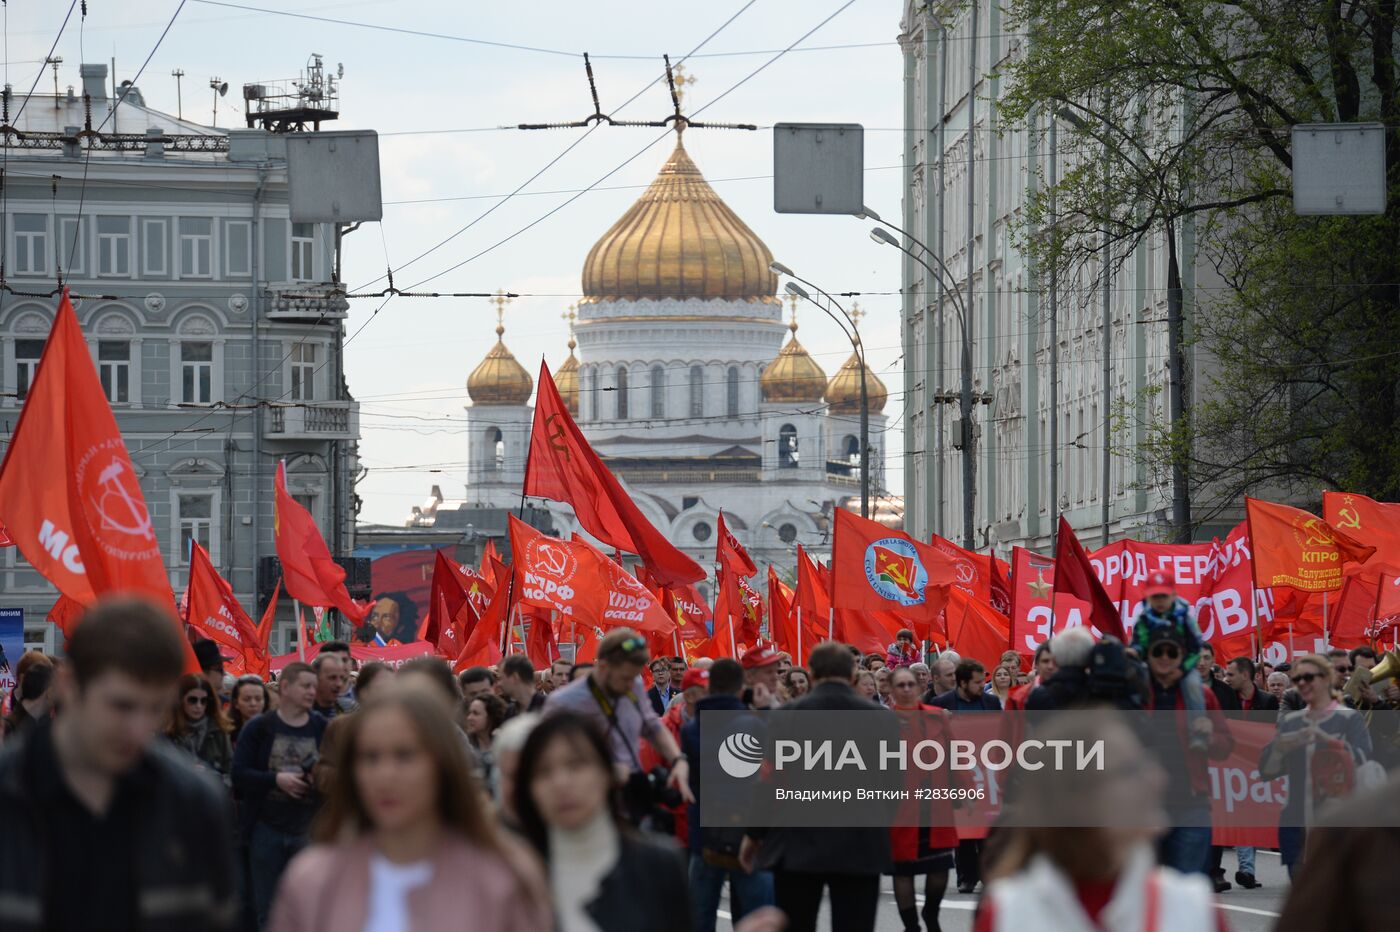
<svg viewBox="0 0 1400 932">
<path fill-rule="evenodd" d="M 538 859 L 497 831 L 441 702 L 396 689 L 353 719 L 318 844 L 288 865 L 269 929 L 552 929 Z"/>
</svg>

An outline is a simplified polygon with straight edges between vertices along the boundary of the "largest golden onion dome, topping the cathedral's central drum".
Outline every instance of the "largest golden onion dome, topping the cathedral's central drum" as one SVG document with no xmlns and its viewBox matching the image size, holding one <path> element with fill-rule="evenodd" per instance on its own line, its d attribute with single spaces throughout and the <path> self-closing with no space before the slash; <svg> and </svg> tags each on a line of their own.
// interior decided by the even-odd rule
<svg viewBox="0 0 1400 932">
<path fill-rule="evenodd" d="M 777 301 L 773 253 L 690 161 L 680 137 L 657 179 L 594 243 L 584 301 Z"/>
</svg>

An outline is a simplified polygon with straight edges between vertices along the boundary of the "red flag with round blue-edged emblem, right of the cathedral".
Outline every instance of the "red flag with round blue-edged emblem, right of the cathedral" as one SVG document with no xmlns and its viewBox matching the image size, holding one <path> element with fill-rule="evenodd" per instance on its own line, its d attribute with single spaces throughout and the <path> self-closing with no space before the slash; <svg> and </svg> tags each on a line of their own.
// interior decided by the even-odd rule
<svg viewBox="0 0 1400 932">
<path fill-rule="evenodd" d="M 833 536 L 832 605 L 837 610 L 893 612 L 925 624 L 938 617 L 946 586 L 958 579 L 952 557 L 844 508 L 836 509 Z"/>
</svg>

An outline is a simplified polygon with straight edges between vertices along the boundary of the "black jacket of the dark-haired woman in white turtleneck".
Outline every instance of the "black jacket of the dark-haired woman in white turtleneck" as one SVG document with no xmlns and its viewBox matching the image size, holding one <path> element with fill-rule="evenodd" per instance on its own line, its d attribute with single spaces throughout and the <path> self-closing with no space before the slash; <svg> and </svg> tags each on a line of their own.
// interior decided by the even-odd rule
<svg viewBox="0 0 1400 932">
<path fill-rule="evenodd" d="M 685 855 L 671 840 L 622 833 L 617 863 L 584 905 L 602 932 L 693 932 Z"/>
</svg>

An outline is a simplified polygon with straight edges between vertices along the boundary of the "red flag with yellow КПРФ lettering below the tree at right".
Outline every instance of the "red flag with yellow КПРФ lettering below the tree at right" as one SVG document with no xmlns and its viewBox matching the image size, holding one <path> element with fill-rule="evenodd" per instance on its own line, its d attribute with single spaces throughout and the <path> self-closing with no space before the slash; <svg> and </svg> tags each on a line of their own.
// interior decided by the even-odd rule
<svg viewBox="0 0 1400 932">
<path fill-rule="evenodd" d="M 1302 592 L 1340 589 L 1343 567 L 1365 563 L 1375 547 L 1341 533 L 1326 521 L 1301 508 L 1245 500 L 1250 550 L 1254 554 L 1254 585 L 1289 586 Z"/>
</svg>

